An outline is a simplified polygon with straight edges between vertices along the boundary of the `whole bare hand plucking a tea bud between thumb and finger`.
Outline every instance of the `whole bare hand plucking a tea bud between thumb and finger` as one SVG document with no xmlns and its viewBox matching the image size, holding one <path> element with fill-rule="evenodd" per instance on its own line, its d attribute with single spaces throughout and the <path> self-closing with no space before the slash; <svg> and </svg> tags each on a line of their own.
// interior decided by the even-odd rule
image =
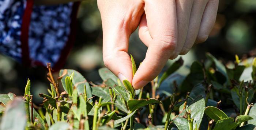
<svg viewBox="0 0 256 130">
<path fill-rule="evenodd" d="M 168 59 L 185 55 L 204 42 L 214 26 L 218 0 L 98 0 L 103 28 L 103 61 L 120 80 L 135 89 L 153 80 Z M 148 46 L 146 58 L 132 75 L 130 35 Z"/>
</svg>

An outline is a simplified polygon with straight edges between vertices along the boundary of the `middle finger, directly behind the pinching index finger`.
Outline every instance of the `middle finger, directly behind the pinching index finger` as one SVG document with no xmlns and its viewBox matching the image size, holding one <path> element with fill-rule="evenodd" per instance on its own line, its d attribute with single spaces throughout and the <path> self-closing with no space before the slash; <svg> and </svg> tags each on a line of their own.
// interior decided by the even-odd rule
<svg viewBox="0 0 256 130">
<path fill-rule="evenodd" d="M 178 40 L 177 47 L 173 51 L 170 59 L 175 59 L 182 50 L 187 38 L 189 17 L 194 0 L 176 0 L 177 23 L 178 23 Z"/>
</svg>

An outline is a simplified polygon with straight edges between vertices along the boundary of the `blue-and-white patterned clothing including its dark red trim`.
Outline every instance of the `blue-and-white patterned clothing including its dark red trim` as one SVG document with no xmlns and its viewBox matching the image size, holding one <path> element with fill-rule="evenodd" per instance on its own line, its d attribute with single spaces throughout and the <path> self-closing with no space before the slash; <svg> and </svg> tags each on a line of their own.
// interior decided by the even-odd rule
<svg viewBox="0 0 256 130">
<path fill-rule="evenodd" d="M 33 0 L 0 0 L 0 53 L 26 65 L 50 62 L 59 69 L 74 42 L 71 26 L 78 4 L 35 6 Z"/>
</svg>

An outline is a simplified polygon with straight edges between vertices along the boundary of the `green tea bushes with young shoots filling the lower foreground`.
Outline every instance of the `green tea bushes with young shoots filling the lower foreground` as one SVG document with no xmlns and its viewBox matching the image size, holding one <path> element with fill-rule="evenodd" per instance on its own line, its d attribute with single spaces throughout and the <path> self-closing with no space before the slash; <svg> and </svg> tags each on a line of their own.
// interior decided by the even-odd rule
<svg viewBox="0 0 256 130">
<path fill-rule="evenodd" d="M 23 97 L 0 94 L 1 130 L 254 130 L 256 129 L 256 58 L 223 65 L 211 54 L 193 62 L 181 75 L 180 58 L 151 81 L 134 90 L 107 68 L 103 82 L 88 82 L 75 70 L 54 79 L 48 64 L 49 94 L 33 104 L 30 80 Z M 132 70 L 136 73 L 133 57 Z M 242 76 L 241 76 L 242 75 Z M 249 75 L 249 76 L 248 76 Z M 246 80 L 241 80 L 246 79 Z M 62 84 L 64 92 L 59 92 Z"/>
</svg>

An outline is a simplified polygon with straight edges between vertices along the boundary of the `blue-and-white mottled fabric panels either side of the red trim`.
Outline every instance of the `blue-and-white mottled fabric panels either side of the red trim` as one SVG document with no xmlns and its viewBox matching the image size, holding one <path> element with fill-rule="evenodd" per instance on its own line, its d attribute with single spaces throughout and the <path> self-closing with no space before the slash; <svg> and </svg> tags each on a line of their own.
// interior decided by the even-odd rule
<svg viewBox="0 0 256 130">
<path fill-rule="evenodd" d="M 0 0 L 0 53 L 22 62 L 21 26 L 26 0 Z M 54 65 L 70 34 L 73 3 L 34 6 L 29 26 L 29 57 Z"/>
</svg>

